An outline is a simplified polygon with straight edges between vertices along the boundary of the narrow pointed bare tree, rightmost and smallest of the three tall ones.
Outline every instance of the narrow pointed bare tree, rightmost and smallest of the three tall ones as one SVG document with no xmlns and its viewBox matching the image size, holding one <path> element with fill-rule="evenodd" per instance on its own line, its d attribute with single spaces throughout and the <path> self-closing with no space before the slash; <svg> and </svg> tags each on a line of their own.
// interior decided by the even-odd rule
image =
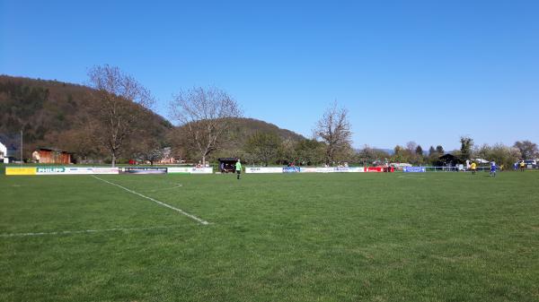
<svg viewBox="0 0 539 302">
<path fill-rule="evenodd" d="M 314 135 L 322 139 L 326 144 L 326 163 L 331 164 L 339 160 L 339 154 L 349 153 L 352 132 L 348 120 L 348 110 L 340 108 L 337 102 L 333 102 L 331 108 L 328 108 L 322 118 L 316 124 Z"/>
</svg>

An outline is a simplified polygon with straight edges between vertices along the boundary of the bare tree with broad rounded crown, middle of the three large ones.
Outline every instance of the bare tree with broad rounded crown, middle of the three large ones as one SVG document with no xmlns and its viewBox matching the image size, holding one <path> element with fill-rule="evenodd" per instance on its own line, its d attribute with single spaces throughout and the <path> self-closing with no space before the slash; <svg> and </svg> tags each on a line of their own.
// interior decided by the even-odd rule
<svg viewBox="0 0 539 302">
<path fill-rule="evenodd" d="M 237 102 L 216 87 L 180 91 L 171 104 L 171 118 L 183 129 L 186 147 L 196 151 L 203 164 L 225 139 L 233 117 L 242 116 Z"/>
</svg>

